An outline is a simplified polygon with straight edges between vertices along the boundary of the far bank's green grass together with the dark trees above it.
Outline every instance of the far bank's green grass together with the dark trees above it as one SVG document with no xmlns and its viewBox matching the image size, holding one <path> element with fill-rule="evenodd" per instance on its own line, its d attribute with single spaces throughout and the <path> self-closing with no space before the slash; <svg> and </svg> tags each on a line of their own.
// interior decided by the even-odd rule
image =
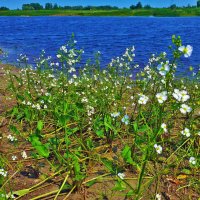
<svg viewBox="0 0 200 200">
<path fill-rule="evenodd" d="M 196 6 L 178 7 L 172 4 L 168 8 L 152 8 L 138 2 L 130 8 L 116 6 L 60 6 L 58 4 L 39 3 L 23 4 L 22 9 L 9 10 L 0 8 L 0 16 L 200 16 L 200 1 Z"/>
</svg>

